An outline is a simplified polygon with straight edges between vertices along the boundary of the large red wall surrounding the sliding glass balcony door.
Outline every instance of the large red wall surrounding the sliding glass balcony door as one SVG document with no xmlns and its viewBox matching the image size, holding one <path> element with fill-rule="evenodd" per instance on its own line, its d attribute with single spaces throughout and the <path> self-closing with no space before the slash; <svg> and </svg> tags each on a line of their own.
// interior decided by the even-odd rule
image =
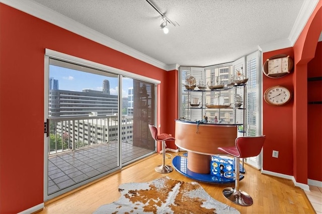
<svg viewBox="0 0 322 214">
<path fill-rule="evenodd" d="M 175 133 L 178 101 L 168 86 L 175 87 L 176 71 L 166 72 L 2 3 L 0 32 L 0 213 L 43 202 L 45 48 L 160 80 L 160 132 Z"/>
</svg>

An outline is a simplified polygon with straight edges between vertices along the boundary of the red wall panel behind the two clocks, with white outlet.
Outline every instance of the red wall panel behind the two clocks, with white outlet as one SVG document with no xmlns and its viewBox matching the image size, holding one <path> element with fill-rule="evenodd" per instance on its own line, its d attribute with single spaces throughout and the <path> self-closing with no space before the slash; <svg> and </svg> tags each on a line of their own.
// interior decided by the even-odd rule
<svg viewBox="0 0 322 214">
<path fill-rule="evenodd" d="M 263 61 L 277 55 L 287 54 L 292 59 L 293 48 L 287 48 L 263 54 Z M 281 85 L 293 92 L 292 73 L 282 78 L 269 78 L 263 75 L 263 92 Z M 293 99 L 283 106 L 273 106 L 263 102 L 263 134 L 266 140 L 263 149 L 263 169 L 282 174 L 293 174 Z M 273 150 L 279 151 L 278 158 L 272 157 Z"/>
</svg>

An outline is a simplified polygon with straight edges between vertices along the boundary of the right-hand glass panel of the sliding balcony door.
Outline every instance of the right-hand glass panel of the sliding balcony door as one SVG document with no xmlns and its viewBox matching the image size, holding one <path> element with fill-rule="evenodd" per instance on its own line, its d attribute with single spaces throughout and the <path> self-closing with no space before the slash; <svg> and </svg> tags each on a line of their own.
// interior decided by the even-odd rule
<svg viewBox="0 0 322 214">
<path fill-rule="evenodd" d="M 131 78 L 122 78 L 122 87 L 128 91 L 122 102 L 122 165 L 131 163 L 155 151 L 148 124 L 155 119 L 155 84 Z"/>
</svg>

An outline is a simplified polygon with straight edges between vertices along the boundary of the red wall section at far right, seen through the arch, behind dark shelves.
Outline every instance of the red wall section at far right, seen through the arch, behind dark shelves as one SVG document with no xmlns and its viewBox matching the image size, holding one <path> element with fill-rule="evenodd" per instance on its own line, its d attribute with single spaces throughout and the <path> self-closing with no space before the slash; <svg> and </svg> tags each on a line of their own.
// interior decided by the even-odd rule
<svg viewBox="0 0 322 214">
<path fill-rule="evenodd" d="M 307 65 L 307 77 L 322 77 L 322 42 L 317 43 L 315 56 Z M 322 81 L 307 83 L 307 101 L 322 101 Z M 307 176 L 322 181 L 322 104 L 307 106 Z"/>
</svg>

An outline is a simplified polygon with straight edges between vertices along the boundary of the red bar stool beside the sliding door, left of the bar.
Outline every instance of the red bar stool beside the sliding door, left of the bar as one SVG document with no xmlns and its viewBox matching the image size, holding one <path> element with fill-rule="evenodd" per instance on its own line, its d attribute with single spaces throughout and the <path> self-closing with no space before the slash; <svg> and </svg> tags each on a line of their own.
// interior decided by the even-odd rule
<svg viewBox="0 0 322 214">
<path fill-rule="evenodd" d="M 173 136 L 171 136 L 170 134 L 157 134 L 157 128 L 155 126 L 153 126 L 152 124 L 149 124 L 149 128 L 150 128 L 150 132 L 152 135 L 152 138 L 156 141 L 162 141 L 162 154 L 163 154 L 163 159 L 162 159 L 162 165 L 158 165 L 156 166 L 154 169 L 155 171 L 159 172 L 159 173 L 169 173 L 173 171 L 172 166 L 166 165 L 166 140 L 171 140 L 174 141 L 176 140 Z M 168 155 L 170 155 L 170 158 L 172 157 L 171 154 L 167 153 Z"/>
</svg>

